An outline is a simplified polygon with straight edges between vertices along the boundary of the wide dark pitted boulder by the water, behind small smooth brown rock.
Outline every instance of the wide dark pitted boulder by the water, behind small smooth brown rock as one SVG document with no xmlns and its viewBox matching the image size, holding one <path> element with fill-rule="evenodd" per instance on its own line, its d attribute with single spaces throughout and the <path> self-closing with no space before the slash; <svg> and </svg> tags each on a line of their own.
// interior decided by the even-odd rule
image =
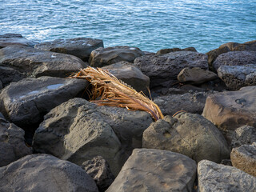
<svg viewBox="0 0 256 192">
<path fill-rule="evenodd" d="M 169 54 L 149 54 L 134 60 L 134 65 L 150 77 L 150 87 L 171 87 L 178 73 L 185 67 L 208 69 L 207 55 L 193 51 L 176 51 Z"/>
</svg>

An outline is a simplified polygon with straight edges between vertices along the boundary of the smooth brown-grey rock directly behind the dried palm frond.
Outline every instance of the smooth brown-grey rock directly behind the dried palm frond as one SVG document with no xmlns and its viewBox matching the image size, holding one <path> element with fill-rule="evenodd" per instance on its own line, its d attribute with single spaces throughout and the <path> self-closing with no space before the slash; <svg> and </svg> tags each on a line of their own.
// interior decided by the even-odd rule
<svg viewBox="0 0 256 192">
<path fill-rule="evenodd" d="M 142 74 L 142 71 L 133 63 L 117 62 L 110 66 L 104 66 L 102 69 L 109 70 L 116 78 L 126 82 L 138 92 L 142 90 L 147 93 L 147 87 L 150 87 L 150 78 Z"/>
</svg>

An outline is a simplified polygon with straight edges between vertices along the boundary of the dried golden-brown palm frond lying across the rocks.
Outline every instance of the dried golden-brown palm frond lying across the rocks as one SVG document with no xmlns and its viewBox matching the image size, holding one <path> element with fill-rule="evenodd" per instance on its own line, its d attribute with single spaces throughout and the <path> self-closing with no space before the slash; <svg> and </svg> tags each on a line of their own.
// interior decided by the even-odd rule
<svg viewBox="0 0 256 192">
<path fill-rule="evenodd" d="M 100 106 L 119 106 L 126 107 L 128 110 L 144 110 L 151 114 L 155 121 L 163 118 L 161 110 L 154 102 L 125 82 L 118 80 L 107 70 L 88 66 L 70 78 L 86 78 L 93 85 L 90 102 Z M 100 99 L 95 100 L 99 97 Z"/>
</svg>

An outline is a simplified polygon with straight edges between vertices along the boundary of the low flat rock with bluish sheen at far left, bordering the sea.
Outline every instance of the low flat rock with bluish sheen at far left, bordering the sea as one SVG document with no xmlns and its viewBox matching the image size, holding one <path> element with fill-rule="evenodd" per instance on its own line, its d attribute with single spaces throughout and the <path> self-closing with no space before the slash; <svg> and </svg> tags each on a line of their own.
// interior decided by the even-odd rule
<svg viewBox="0 0 256 192">
<path fill-rule="evenodd" d="M 11 45 L 34 46 L 35 44 L 35 42 L 23 38 L 21 34 L 0 35 L 0 49 Z"/>
</svg>

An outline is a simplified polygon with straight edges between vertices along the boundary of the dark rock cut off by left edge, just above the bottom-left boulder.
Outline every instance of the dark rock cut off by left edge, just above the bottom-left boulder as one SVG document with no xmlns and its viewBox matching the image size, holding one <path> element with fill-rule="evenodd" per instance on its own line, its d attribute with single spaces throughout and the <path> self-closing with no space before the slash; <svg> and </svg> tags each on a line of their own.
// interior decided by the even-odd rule
<svg viewBox="0 0 256 192">
<path fill-rule="evenodd" d="M 0 116 L 0 166 L 32 154 L 32 149 L 25 144 L 24 134 L 24 130 Z"/>
</svg>

